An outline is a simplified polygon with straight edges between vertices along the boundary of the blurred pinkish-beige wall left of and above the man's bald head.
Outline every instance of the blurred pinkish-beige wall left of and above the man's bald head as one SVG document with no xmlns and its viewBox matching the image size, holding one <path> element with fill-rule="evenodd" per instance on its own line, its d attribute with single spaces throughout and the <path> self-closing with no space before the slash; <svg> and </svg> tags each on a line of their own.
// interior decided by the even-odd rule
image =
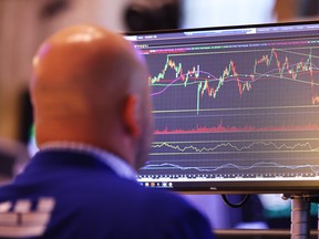
<svg viewBox="0 0 319 239">
<path fill-rule="evenodd" d="M 20 94 L 28 87 L 39 44 L 56 30 L 76 23 L 99 23 L 124 31 L 130 0 L 0 1 L 0 137 L 18 138 Z"/>
</svg>

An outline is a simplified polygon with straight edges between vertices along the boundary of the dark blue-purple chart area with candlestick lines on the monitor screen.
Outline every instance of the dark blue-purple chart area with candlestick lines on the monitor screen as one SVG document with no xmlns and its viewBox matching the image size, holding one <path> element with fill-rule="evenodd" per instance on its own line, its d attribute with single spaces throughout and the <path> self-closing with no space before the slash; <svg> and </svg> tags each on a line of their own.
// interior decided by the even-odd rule
<svg viewBox="0 0 319 239">
<path fill-rule="evenodd" d="M 318 177 L 318 42 L 144 50 L 155 141 L 141 177 Z"/>
</svg>

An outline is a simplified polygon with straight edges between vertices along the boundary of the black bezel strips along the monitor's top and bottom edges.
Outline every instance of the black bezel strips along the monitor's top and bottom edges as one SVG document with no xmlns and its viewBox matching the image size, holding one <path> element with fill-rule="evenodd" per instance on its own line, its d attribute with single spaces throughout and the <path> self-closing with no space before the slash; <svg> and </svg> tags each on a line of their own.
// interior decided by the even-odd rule
<svg viewBox="0 0 319 239">
<path fill-rule="evenodd" d="M 298 25 L 318 25 L 319 21 L 295 21 L 295 22 L 276 22 L 265 24 L 247 24 L 247 25 L 226 25 L 226 27 L 213 27 L 213 28 L 195 28 L 195 29 L 176 29 L 176 30 L 161 30 L 161 31 L 140 31 L 140 32 L 126 32 L 124 35 L 157 35 L 165 33 L 185 33 L 194 31 L 219 31 L 219 30 L 238 30 L 249 28 L 274 28 L 274 27 L 298 27 Z M 318 29 L 319 30 L 319 29 Z M 317 30 L 317 31 L 318 31 Z M 267 33 L 264 33 L 263 38 L 267 39 Z M 269 35 L 271 38 L 271 35 Z M 319 159 L 319 158 L 318 158 Z M 219 180 L 219 181 L 175 181 L 167 178 L 167 184 L 172 186 L 158 186 L 156 181 L 147 184 L 147 187 L 164 188 L 167 190 L 174 190 L 179 193 L 196 193 L 196 194 L 316 194 L 319 188 L 318 180 L 307 180 L 302 178 L 299 180 L 285 180 L 278 178 L 278 180 L 269 180 L 267 178 L 256 178 L 256 180 Z M 141 183 L 143 184 L 143 183 Z M 167 185 L 166 184 L 166 185 Z M 144 185 L 145 186 L 145 185 Z"/>
</svg>

